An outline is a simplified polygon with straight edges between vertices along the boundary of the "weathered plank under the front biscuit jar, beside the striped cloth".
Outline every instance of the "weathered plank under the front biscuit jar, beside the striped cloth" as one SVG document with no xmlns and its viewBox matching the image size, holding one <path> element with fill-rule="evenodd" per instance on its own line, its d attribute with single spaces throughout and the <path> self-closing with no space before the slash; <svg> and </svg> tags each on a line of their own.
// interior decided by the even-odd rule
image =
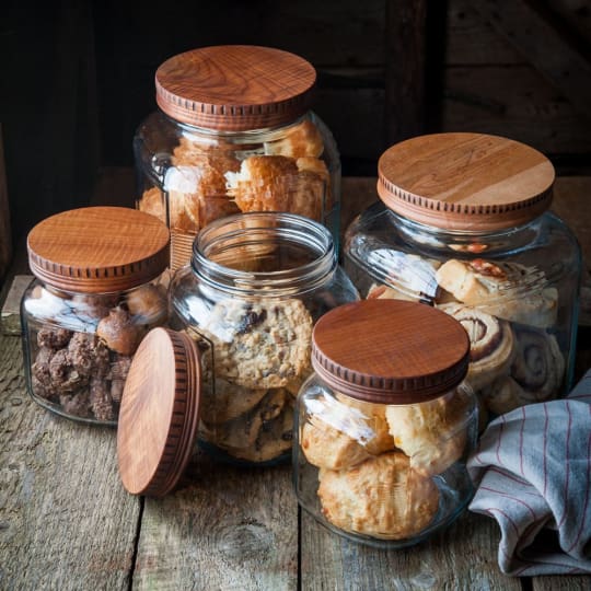
<svg viewBox="0 0 591 591">
<path fill-rule="evenodd" d="M 521 590 L 519 579 L 498 569 L 498 542 L 494 520 L 466 512 L 424 544 L 379 551 L 340 538 L 302 512 L 302 589 Z"/>
</svg>

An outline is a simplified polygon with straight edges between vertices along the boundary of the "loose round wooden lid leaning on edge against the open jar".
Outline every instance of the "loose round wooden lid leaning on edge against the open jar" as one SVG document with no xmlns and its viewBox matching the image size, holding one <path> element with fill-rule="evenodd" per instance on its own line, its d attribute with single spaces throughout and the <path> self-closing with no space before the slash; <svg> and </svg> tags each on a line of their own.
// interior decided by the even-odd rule
<svg viewBox="0 0 591 591">
<path fill-rule="evenodd" d="M 174 489 L 194 451 L 199 424 L 199 352 L 184 333 L 153 328 L 129 369 L 117 426 L 117 461 L 132 495 Z"/>
</svg>

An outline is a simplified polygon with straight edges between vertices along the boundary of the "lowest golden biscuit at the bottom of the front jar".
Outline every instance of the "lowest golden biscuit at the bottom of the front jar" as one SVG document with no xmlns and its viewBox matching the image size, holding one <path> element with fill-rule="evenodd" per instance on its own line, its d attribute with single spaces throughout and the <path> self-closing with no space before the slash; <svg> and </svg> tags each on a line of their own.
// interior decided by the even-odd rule
<svg viewBox="0 0 591 591">
<path fill-rule="evenodd" d="M 389 452 L 343 471 L 321 470 L 318 498 L 327 521 L 372 537 L 404 540 L 425 530 L 439 507 L 431 478 Z"/>
</svg>

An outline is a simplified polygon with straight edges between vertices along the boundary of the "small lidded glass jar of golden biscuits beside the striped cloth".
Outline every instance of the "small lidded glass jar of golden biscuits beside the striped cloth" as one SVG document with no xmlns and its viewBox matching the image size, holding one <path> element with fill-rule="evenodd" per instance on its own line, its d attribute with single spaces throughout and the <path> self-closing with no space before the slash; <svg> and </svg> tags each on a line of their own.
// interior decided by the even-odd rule
<svg viewBox="0 0 591 591">
<path fill-rule="evenodd" d="M 419 303 L 363 300 L 325 314 L 297 402 L 301 507 L 378 547 L 416 544 L 454 521 L 473 495 L 468 354 L 461 324 Z"/>
</svg>

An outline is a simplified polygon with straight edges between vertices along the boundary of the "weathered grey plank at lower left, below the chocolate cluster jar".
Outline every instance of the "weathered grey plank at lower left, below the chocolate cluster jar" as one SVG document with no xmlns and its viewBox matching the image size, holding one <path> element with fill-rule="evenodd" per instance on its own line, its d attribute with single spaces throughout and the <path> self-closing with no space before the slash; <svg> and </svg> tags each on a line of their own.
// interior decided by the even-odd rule
<svg viewBox="0 0 591 591">
<path fill-rule="evenodd" d="M 55 417 L 25 391 L 21 339 L 0 335 L 0 587 L 127 590 L 138 499 L 115 431 Z"/>
</svg>

